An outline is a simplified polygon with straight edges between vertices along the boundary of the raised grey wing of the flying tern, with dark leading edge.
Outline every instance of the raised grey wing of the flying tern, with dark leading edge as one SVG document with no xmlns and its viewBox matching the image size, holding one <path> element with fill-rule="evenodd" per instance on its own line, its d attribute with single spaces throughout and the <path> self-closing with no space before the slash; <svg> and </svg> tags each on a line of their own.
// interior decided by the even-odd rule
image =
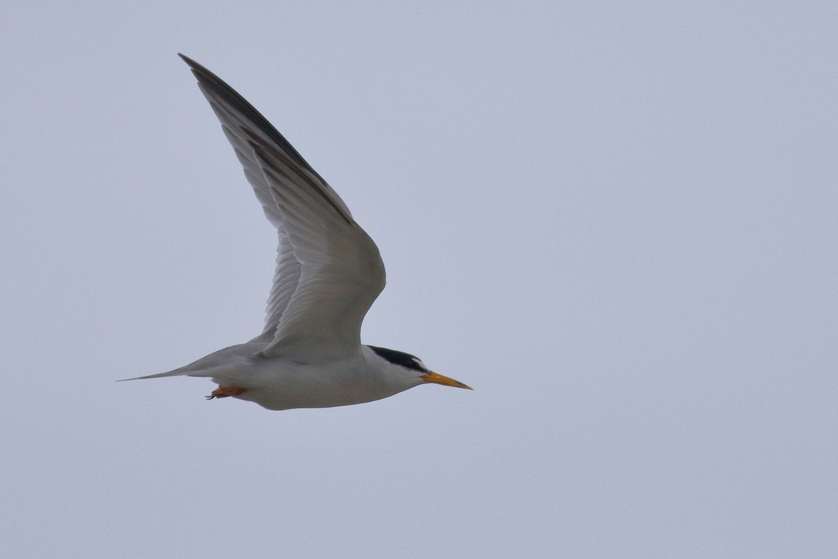
<svg viewBox="0 0 838 559">
<path fill-rule="evenodd" d="M 357 352 L 360 326 L 384 289 L 378 248 L 338 194 L 229 85 L 181 54 L 218 116 L 245 176 L 277 227 L 265 355 L 329 360 Z"/>
</svg>

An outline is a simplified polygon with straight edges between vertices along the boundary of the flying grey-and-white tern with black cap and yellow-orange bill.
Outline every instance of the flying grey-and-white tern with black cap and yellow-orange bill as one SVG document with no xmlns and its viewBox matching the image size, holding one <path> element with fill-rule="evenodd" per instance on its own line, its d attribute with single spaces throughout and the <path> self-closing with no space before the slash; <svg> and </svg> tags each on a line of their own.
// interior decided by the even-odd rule
<svg viewBox="0 0 838 559">
<path fill-rule="evenodd" d="M 180 54 L 221 122 L 267 220 L 277 228 L 277 268 L 265 328 L 158 375 L 198 376 L 269 410 L 349 406 L 433 383 L 471 390 L 395 349 L 364 345 L 361 323 L 384 289 L 375 242 L 325 180 L 259 111 L 218 76 Z"/>
</svg>

